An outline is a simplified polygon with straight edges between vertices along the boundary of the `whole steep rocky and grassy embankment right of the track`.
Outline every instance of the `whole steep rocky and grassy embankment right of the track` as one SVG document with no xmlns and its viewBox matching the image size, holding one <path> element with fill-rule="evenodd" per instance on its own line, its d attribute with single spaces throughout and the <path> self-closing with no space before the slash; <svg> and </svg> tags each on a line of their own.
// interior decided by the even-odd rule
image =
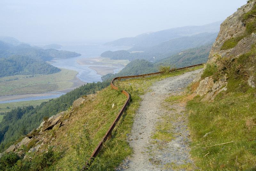
<svg viewBox="0 0 256 171">
<path fill-rule="evenodd" d="M 256 2 L 220 26 L 201 77 L 191 87 L 189 128 L 201 170 L 256 169 Z"/>
</svg>

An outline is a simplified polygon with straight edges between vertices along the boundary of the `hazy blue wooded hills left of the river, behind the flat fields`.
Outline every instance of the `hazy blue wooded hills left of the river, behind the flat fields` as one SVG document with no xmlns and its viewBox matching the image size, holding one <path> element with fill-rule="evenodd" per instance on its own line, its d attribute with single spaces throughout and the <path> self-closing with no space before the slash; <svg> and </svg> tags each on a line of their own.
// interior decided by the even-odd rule
<svg viewBox="0 0 256 171">
<path fill-rule="evenodd" d="M 17 74 L 56 73 L 60 69 L 45 61 L 50 61 L 53 58 L 71 58 L 80 55 L 70 51 L 32 47 L 29 44 L 20 43 L 12 37 L 0 37 L 0 77 Z"/>
</svg>

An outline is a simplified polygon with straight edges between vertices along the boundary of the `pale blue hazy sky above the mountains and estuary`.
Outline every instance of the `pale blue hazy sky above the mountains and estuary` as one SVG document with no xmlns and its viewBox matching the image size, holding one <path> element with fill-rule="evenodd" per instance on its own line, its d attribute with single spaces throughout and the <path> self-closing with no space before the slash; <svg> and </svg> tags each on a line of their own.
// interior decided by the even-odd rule
<svg viewBox="0 0 256 171">
<path fill-rule="evenodd" d="M 0 35 L 27 43 L 106 42 L 226 19 L 245 0 L 1 0 Z"/>
</svg>

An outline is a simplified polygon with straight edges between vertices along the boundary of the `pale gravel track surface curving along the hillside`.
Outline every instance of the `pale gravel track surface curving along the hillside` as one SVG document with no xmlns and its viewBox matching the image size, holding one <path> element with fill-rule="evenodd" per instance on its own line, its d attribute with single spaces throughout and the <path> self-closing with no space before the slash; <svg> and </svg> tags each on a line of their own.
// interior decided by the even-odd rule
<svg viewBox="0 0 256 171">
<path fill-rule="evenodd" d="M 185 105 L 172 106 L 175 112 L 163 107 L 164 99 L 170 95 L 179 95 L 202 69 L 169 77 L 156 82 L 150 89 L 153 91 L 142 96 L 140 107 L 135 115 L 131 136 L 128 138 L 134 153 L 116 168 L 118 171 L 151 171 L 151 170 L 186 170 L 192 166 L 189 159 L 189 132 L 187 117 L 184 116 Z M 152 134 L 156 123 L 164 115 L 170 115 L 174 139 L 169 143 L 152 143 Z M 176 118 L 172 121 L 172 115 Z M 160 148 L 159 148 L 160 145 Z M 184 164 L 185 162 L 185 164 Z M 178 166 L 182 165 L 183 168 Z"/>
</svg>

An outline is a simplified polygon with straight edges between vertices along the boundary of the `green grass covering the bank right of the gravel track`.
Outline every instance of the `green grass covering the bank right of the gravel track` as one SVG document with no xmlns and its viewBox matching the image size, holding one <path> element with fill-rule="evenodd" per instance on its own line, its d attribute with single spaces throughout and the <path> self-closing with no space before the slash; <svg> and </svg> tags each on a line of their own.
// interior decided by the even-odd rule
<svg viewBox="0 0 256 171">
<path fill-rule="evenodd" d="M 252 48 L 230 65 L 219 66 L 228 84 L 214 101 L 202 102 L 203 96 L 197 96 L 187 103 L 191 155 L 198 170 L 256 170 L 256 89 L 244 76 L 246 67 L 255 66 L 254 56 Z"/>
</svg>

